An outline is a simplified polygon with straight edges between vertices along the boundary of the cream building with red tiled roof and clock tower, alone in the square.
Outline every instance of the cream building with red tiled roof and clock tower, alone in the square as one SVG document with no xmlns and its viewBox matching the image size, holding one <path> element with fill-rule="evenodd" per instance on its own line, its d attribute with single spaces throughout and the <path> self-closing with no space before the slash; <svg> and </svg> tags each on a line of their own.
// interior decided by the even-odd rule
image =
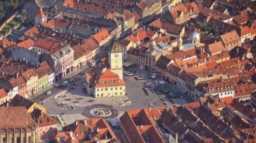
<svg viewBox="0 0 256 143">
<path fill-rule="evenodd" d="M 117 42 L 108 53 L 108 64 L 95 67 L 85 75 L 85 89 L 95 98 L 126 95 L 122 80 L 122 48 Z"/>
</svg>

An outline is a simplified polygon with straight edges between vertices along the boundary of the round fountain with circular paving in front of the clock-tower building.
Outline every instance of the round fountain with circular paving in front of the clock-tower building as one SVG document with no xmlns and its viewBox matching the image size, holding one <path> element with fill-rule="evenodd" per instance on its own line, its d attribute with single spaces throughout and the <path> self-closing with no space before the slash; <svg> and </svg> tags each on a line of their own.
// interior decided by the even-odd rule
<svg viewBox="0 0 256 143">
<path fill-rule="evenodd" d="M 118 115 L 118 111 L 113 109 L 109 105 L 91 105 L 85 107 L 83 110 L 83 115 L 88 118 L 113 118 Z"/>
</svg>

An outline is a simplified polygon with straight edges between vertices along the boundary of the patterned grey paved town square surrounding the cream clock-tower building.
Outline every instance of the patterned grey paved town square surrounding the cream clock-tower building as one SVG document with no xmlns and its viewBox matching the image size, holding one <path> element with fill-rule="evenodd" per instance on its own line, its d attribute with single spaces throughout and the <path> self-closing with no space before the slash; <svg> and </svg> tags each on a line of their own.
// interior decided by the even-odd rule
<svg viewBox="0 0 256 143">
<path fill-rule="evenodd" d="M 74 90 L 67 90 L 66 93 L 61 96 L 55 97 L 55 94 L 49 98 L 44 99 L 43 105 L 46 107 L 50 116 L 60 114 L 63 116 L 63 122 L 65 125 L 71 123 L 71 121 L 91 116 L 84 114 L 86 110 L 97 105 L 108 105 L 109 107 L 117 110 L 117 117 L 122 116 L 125 110 L 129 109 L 143 109 L 145 107 L 163 107 L 171 105 L 172 103 L 167 96 L 161 95 L 156 90 L 157 82 L 154 79 L 149 79 L 149 73 L 137 68 L 128 68 L 124 72 L 130 72 L 135 70 L 136 74 L 139 74 L 145 79 L 136 80 L 134 76 L 124 76 L 126 83 L 126 96 L 113 97 L 113 98 L 94 98 L 85 93 L 84 86 L 76 85 Z M 151 87 L 147 88 L 145 92 L 145 82 L 150 81 Z M 173 86 L 172 88 L 175 88 Z M 177 88 L 175 88 L 177 90 Z M 183 95 L 184 97 L 185 95 Z M 174 104 L 186 103 L 186 98 L 172 99 Z M 78 114 L 80 114 L 78 116 Z M 84 116 L 85 115 L 85 116 Z M 79 118 L 78 118 L 79 117 Z"/>
</svg>

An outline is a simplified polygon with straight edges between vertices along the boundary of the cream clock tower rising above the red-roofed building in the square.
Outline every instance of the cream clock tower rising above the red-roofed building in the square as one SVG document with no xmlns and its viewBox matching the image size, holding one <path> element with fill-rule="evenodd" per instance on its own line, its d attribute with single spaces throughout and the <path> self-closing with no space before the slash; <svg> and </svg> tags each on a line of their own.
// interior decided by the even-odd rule
<svg viewBox="0 0 256 143">
<path fill-rule="evenodd" d="M 113 42 L 113 46 L 108 53 L 108 57 L 110 70 L 117 73 L 120 79 L 122 79 L 122 48 L 116 40 Z"/>
</svg>

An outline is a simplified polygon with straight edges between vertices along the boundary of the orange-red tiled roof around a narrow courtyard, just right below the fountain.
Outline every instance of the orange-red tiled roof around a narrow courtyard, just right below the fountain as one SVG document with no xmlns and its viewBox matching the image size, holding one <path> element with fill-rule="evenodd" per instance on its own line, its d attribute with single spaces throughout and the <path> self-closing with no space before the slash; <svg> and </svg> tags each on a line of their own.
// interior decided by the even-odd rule
<svg viewBox="0 0 256 143">
<path fill-rule="evenodd" d="M 145 135 L 149 142 L 164 142 L 152 123 L 163 111 L 163 108 L 127 110 L 120 118 L 122 129 L 126 130 L 126 136 L 129 136 L 132 142 L 145 142 Z"/>
</svg>

